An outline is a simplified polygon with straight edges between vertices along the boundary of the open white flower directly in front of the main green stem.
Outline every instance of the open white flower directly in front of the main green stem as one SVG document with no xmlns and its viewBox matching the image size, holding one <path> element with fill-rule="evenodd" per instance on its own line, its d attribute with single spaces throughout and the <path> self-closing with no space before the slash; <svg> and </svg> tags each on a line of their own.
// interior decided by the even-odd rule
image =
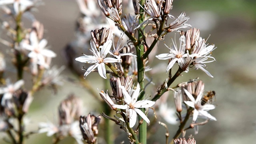
<svg viewBox="0 0 256 144">
<path fill-rule="evenodd" d="M 117 105 L 113 104 L 116 108 L 124 109 L 126 110 L 129 118 L 130 118 L 130 128 L 132 128 L 136 124 L 137 120 L 137 113 L 149 124 L 150 121 L 147 118 L 147 116 L 138 108 L 149 108 L 155 104 L 155 102 L 151 100 L 139 100 L 138 96 L 140 95 L 140 84 L 137 83 L 136 90 L 132 93 L 132 96 L 126 92 L 124 86 L 120 86 L 122 88 L 122 93 L 124 95 L 124 102 L 125 105 Z"/>
</svg>

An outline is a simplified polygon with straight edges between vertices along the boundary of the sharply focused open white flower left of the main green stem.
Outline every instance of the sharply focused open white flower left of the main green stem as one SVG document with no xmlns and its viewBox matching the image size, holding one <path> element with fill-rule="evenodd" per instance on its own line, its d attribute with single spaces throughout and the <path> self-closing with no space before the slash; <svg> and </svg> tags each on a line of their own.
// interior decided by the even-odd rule
<svg viewBox="0 0 256 144">
<path fill-rule="evenodd" d="M 107 54 L 110 53 L 112 40 L 107 40 L 103 46 L 100 46 L 99 51 L 97 50 L 96 46 L 93 44 L 92 40 L 90 43 L 92 47 L 93 56 L 88 56 L 84 54 L 84 56 L 80 56 L 76 58 L 76 60 L 79 62 L 94 64 L 86 70 L 86 72 L 84 73 L 84 78 L 86 78 L 86 76 L 90 72 L 92 72 L 92 70 L 98 67 L 98 72 L 100 76 L 106 79 L 107 77 L 106 77 L 105 63 L 120 62 L 120 60 L 116 58 L 106 58 Z"/>
</svg>

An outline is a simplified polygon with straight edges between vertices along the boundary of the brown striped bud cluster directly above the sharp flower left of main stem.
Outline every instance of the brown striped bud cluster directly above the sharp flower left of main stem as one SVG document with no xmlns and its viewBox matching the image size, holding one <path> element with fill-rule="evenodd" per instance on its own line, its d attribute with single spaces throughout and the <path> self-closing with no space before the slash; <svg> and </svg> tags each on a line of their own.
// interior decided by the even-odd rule
<svg viewBox="0 0 256 144">
<path fill-rule="evenodd" d="M 112 32 L 109 28 L 96 28 L 95 30 L 91 31 L 91 36 L 92 42 L 95 44 L 97 49 L 100 46 L 103 46 L 107 40 L 112 40 Z"/>
</svg>

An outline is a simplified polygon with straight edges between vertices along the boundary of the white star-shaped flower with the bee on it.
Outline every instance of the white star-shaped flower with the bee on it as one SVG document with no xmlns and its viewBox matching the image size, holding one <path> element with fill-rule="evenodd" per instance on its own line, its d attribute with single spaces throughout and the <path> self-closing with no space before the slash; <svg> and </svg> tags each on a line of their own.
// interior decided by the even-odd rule
<svg viewBox="0 0 256 144">
<path fill-rule="evenodd" d="M 203 116 L 206 116 L 207 118 L 210 118 L 211 120 L 216 120 L 214 116 L 210 115 L 207 112 L 208 110 L 213 110 L 215 106 L 212 104 L 204 104 L 203 106 L 201 105 L 201 99 L 203 96 L 202 92 L 198 94 L 198 96 L 196 97 L 196 100 L 194 99 L 192 94 L 190 94 L 186 89 L 184 89 L 184 92 L 186 93 L 188 98 L 190 98 L 191 100 L 191 101 L 184 101 L 184 103 L 194 108 L 193 123 L 196 122 L 198 115 L 201 115 L 201 114 Z"/>
</svg>

